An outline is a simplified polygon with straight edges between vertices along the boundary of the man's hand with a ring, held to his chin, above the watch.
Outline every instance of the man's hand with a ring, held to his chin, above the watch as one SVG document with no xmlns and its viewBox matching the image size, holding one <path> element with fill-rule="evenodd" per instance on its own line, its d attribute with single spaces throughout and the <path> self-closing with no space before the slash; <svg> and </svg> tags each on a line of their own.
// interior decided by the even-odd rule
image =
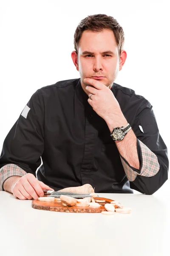
<svg viewBox="0 0 170 256">
<path fill-rule="evenodd" d="M 119 126 L 119 124 L 121 124 L 121 126 L 127 124 L 118 101 L 105 84 L 91 78 L 84 79 L 84 82 L 85 84 L 93 86 L 85 87 L 89 92 L 89 95 L 91 93 L 93 94 L 91 99 L 88 99 L 88 103 L 92 106 L 94 111 L 106 121 L 106 123 L 113 123 L 114 121 L 115 126 Z"/>
</svg>

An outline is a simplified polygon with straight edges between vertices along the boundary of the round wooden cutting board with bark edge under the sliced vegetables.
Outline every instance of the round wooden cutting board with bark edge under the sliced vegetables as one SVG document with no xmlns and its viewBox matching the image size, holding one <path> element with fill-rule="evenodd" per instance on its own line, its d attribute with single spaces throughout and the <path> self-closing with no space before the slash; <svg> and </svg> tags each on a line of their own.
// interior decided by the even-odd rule
<svg viewBox="0 0 170 256">
<path fill-rule="evenodd" d="M 96 197 L 94 199 L 98 200 L 105 200 L 105 203 L 99 203 L 101 204 L 100 208 L 91 208 L 89 206 L 87 207 L 79 207 L 79 206 L 70 206 L 70 207 L 64 207 L 62 203 L 57 201 L 39 201 L 39 200 L 33 200 L 31 207 L 34 209 L 40 209 L 40 210 L 46 210 L 46 211 L 54 211 L 54 212 L 102 212 L 105 210 L 105 204 L 110 204 L 111 201 L 114 201 L 112 199 L 108 198 L 100 198 Z M 115 206 L 115 209 L 118 208 Z"/>
</svg>

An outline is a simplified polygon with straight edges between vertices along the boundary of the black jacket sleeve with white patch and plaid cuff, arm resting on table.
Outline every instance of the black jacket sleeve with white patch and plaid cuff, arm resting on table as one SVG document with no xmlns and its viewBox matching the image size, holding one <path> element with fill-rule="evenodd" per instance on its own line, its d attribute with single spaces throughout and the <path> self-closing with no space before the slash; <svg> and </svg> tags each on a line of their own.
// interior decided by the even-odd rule
<svg viewBox="0 0 170 256">
<path fill-rule="evenodd" d="M 43 123 L 43 100 L 41 91 L 37 90 L 4 140 L 0 155 L 1 176 L 4 169 L 8 168 L 8 177 L 16 174 L 23 176 L 26 173 L 32 173 L 36 177 L 44 150 Z M 13 166 L 6 166 L 8 164 Z M 5 180 L 2 177 L 0 180 L 2 190 L 2 183 Z"/>
</svg>

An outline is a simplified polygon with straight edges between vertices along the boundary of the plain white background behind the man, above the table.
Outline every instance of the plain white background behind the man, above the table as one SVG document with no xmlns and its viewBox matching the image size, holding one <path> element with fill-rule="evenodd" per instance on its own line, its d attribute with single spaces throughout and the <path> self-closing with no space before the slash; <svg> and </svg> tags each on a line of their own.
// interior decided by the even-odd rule
<svg viewBox="0 0 170 256">
<path fill-rule="evenodd" d="M 38 88 L 79 77 L 71 59 L 74 32 L 80 20 L 99 13 L 116 18 L 125 32 L 127 60 L 115 82 L 150 101 L 169 148 L 168 2 L 0 0 L 0 151 Z M 169 185 L 159 193 L 170 191 Z"/>
</svg>

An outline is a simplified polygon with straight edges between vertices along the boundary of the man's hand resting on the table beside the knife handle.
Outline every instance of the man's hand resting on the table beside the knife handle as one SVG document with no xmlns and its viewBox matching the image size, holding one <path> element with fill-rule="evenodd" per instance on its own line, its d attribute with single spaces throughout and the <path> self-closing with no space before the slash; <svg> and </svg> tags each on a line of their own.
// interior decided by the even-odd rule
<svg viewBox="0 0 170 256">
<path fill-rule="evenodd" d="M 37 180 L 36 177 L 31 173 L 27 173 L 23 177 L 18 177 L 17 182 L 16 176 L 9 177 L 8 179 L 12 178 L 14 183 L 11 183 L 11 191 L 8 189 L 6 190 L 5 186 L 3 186 L 4 190 L 12 192 L 15 197 L 21 200 L 38 199 L 38 197 L 42 197 L 44 195 L 42 189 L 54 190 L 45 185 L 43 182 Z M 8 182 L 8 180 L 6 181 Z M 12 182 L 12 180 L 10 182 Z"/>
</svg>

